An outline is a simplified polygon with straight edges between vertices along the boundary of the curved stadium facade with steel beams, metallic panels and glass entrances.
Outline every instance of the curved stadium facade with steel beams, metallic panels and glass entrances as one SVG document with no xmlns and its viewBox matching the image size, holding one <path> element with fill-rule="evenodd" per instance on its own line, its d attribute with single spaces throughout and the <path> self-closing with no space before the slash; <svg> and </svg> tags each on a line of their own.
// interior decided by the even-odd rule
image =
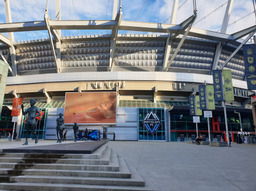
<svg viewBox="0 0 256 191">
<path fill-rule="evenodd" d="M 12 99 L 22 97 L 25 108 L 29 100 L 45 112 L 37 124 L 41 139 L 56 139 L 56 118 L 64 113 L 66 92 L 117 92 L 117 122 L 108 126 L 109 138 L 116 140 L 179 141 L 196 134 L 189 114 L 189 96 L 198 94 L 198 85 L 213 84 L 213 69 L 230 69 L 234 86 L 234 102 L 226 102 L 227 122 L 235 141 L 240 132 L 241 113 L 243 132 L 255 135 L 251 97 L 247 89 L 244 58 L 241 46 L 256 32 L 256 26 L 235 34 L 225 34 L 232 0 L 226 8 L 221 33 L 193 28 L 194 15 L 180 25 L 122 20 L 121 7 L 117 12 L 115 0 L 113 20 L 62 21 L 60 1 L 56 0 L 56 20 L 50 20 L 48 8 L 44 21 L 12 23 L 9 0 L 5 0 L 7 23 L 0 24 L 0 51 L 10 65 L 5 88 L 0 132 L 12 131 L 10 117 Z M 177 0 L 174 1 L 178 3 Z M 174 6 L 175 7 L 175 6 Z M 116 8 L 116 9 L 115 9 Z M 116 10 L 116 11 L 115 11 Z M 50 38 L 14 41 L 13 32 L 47 29 Z M 112 32 L 61 36 L 61 29 L 111 29 Z M 135 32 L 127 32 L 135 31 Z M 249 34 L 249 35 L 248 35 Z M 248 37 L 246 40 L 242 37 Z M 54 49 L 52 49 L 54 47 Z M 54 51 L 53 51 L 54 50 Z M 211 119 L 213 138 L 224 138 L 223 103 L 215 101 Z M 159 117 L 161 126 L 149 133 L 143 125 L 147 112 Z M 15 130 L 24 136 L 24 116 L 19 116 Z M 198 132 L 208 137 L 207 118 L 200 117 Z M 80 126 L 80 129 L 103 130 L 105 124 Z M 72 139 L 72 127 L 65 126 L 67 138 Z M 102 135 L 101 135 L 102 136 Z"/>
</svg>

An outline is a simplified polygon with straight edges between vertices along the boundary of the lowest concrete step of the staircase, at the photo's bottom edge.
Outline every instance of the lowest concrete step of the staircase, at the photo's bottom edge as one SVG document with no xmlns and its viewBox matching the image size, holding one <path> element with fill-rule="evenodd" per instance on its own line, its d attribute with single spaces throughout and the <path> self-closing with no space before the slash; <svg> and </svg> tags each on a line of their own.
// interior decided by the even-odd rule
<svg viewBox="0 0 256 191">
<path fill-rule="evenodd" d="M 54 184 L 54 183 L 0 183 L 0 189 L 26 190 L 26 191 L 159 191 L 149 178 L 144 178 L 145 187 L 133 186 L 103 186 L 87 184 Z"/>
</svg>

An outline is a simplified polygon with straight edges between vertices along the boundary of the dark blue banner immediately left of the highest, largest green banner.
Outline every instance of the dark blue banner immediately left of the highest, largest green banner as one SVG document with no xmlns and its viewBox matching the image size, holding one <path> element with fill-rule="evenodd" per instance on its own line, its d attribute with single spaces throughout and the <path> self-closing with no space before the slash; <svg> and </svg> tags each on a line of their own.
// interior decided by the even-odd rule
<svg viewBox="0 0 256 191">
<path fill-rule="evenodd" d="M 216 101 L 223 101 L 223 81 L 221 76 L 221 70 L 213 70 L 213 88 L 214 99 Z"/>
</svg>

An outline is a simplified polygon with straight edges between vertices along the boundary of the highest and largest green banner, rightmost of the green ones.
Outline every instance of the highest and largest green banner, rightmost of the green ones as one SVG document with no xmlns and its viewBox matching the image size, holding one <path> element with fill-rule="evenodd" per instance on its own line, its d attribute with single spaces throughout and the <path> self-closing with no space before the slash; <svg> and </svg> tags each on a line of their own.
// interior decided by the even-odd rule
<svg viewBox="0 0 256 191">
<path fill-rule="evenodd" d="M 226 101 L 234 101 L 234 91 L 232 84 L 231 70 L 222 70 L 224 81 L 224 92 Z"/>
</svg>

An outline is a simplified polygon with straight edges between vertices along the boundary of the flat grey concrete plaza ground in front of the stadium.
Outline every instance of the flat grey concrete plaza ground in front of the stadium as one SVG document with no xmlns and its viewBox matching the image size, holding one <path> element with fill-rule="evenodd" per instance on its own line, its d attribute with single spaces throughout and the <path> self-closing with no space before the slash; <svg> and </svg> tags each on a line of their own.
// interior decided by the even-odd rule
<svg viewBox="0 0 256 191">
<path fill-rule="evenodd" d="M 64 144 L 73 141 L 65 141 Z M 23 142 L 0 142 L 3 148 Z M 53 145 L 34 140 L 28 146 Z M 187 142 L 110 141 L 109 147 L 159 190 L 256 190 L 256 145 L 210 147 Z M 26 146 L 25 146 L 26 147 Z"/>
</svg>

